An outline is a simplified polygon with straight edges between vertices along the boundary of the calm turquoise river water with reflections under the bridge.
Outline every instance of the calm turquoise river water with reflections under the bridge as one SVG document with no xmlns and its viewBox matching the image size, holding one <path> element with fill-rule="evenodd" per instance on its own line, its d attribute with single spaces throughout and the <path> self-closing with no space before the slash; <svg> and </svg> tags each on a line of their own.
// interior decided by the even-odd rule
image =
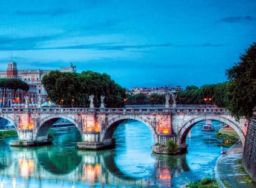
<svg viewBox="0 0 256 188">
<path fill-rule="evenodd" d="M 116 148 L 103 151 L 78 151 L 76 130 L 54 136 L 51 146 L 10 148 L 17 138 L 0 140 L 0 187 L 182 187 L 212 178 L 220 141 L 215 132 L 202 132 L 203 124 L 189 132 L 188 153 L 176 156 L 152 154 L 154 137 L 137 121 L 120 124 Z"/>
</svg>

